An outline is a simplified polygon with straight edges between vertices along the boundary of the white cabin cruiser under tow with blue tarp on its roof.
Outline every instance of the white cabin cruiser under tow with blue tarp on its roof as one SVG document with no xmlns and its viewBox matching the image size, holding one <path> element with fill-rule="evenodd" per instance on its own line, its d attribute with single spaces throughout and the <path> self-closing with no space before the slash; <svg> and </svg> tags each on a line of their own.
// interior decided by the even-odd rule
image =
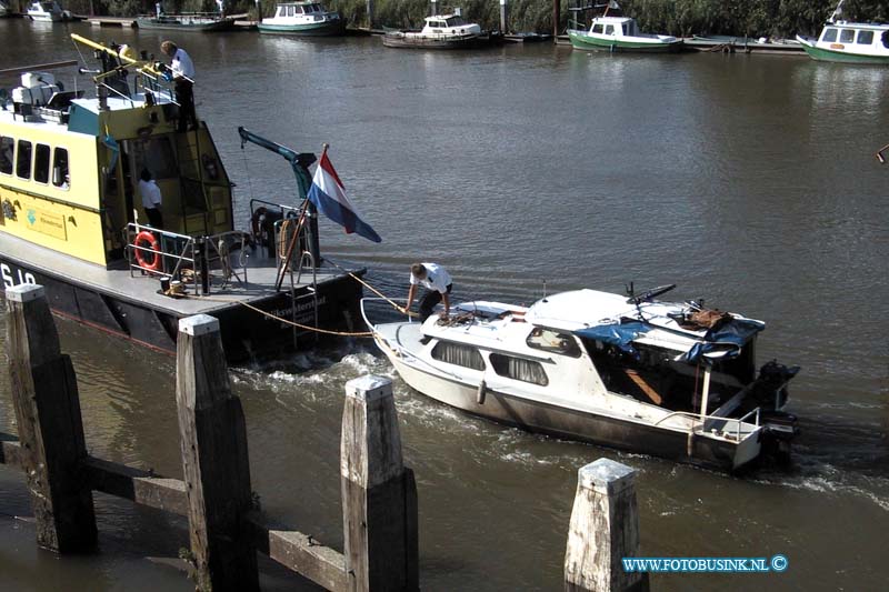
<svg viewBox="0 0 889 592">
<path fill-rule="evenodd" d="M 477 415 L 726 470 L 787 452 L 796 425 L 781 410 L 798 369 L 757 373 L 765 323 L 655 300 L 662 291 L 469 302 L 422 324 L 374 324 L 371 299 L 362 311 L 404 382 Z"/>
</svg>

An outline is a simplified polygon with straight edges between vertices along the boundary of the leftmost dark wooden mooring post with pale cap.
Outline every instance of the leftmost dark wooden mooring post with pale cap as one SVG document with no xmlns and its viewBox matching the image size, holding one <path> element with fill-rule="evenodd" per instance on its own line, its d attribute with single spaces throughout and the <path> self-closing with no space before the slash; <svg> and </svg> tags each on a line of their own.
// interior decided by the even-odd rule
<svg viewBox="0 0 889 592">
<path fill-rule="evenodd" d="M 37 542 L 53 551 L 96 546 L 92 491 L 77 377 L 61 353 L 43 288 L 7 290 L 7 348 L 22 468 L 37 519 Z"/>
</svg>

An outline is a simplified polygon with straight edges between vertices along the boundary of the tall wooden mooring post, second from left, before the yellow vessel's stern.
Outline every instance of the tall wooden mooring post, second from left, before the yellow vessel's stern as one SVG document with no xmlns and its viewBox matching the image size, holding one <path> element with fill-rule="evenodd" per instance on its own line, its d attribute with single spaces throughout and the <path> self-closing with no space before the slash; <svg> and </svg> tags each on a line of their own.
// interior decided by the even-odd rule
<svg viewBox="0 0 889 592">
<path fill-rule="evenodd" d="M 246 523 L 252 504 L 247 429 L 213 317 L 179 321 L 176 402 L 197 588 L 259 590 Z"/>
</svg>

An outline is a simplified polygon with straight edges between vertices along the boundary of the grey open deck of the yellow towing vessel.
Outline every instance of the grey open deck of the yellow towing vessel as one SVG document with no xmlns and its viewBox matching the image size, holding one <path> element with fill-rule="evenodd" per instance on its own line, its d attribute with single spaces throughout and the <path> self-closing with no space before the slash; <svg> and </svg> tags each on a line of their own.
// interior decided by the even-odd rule
<svg viewBox="0 0 889 592">
<path fill-rule="evenodd" d="M 129 269 L 106 269 L 3 232 L 0 232 L 0 253 L 3 253 L 3 258 L 10 262 L 27 263 L 29 268 L 41 273 L 64 279 L 67 282 L 73 281 L 84 288 L 110 293 L 121 300 L 144 304 L 176 317 L 212 314 L 214 311 L 230 308 L 236 303 L 260 302 L 278 293 L 274 290 L 277 281 L 274 261 L 262 257 L 259 249 L 256 252 L 248 251 L 247 282 L 232 277 L 223 285 L 221 271 L 213 270 L 210 294 L 196 295 L 193 287 L 188 284 L 188 298 L 171 298 L 162 294 L 158 277 L 140 275 L 139 270 L 131 274 Z M 232 254 L 233 259 L 238 257 L 239 253 Z M 237 267 L 233 269 L 241 277 L 240 280 L 243 280 L 242 270 Z M 2 271 L 3 280 L 7 282 L 9 270 Z M 361 272 L 361 270 L 349 271 Z M 322 267 L 316 273 L 316 281 L 318 284 L 322 284 L 341 279 L 344 274 L 338 269 Z M 19 283 L 20 279 L 9 278 L 9 281 Z M 312 273 L 311 270 L 308 270 L 302 273 L 299 283 L 294 283 L 294 288 L 306 288 L 311 285 L 311 282 Z M 289 291 L 289 289 L 288 275 L 282 283 L 282 290 Z"/>
</svg>

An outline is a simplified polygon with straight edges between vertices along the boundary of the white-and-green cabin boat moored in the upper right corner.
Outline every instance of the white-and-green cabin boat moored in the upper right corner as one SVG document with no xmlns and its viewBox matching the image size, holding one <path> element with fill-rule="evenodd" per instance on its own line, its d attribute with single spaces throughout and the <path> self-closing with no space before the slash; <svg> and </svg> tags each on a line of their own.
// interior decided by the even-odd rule
<svg viewBox="0 0 889 592">
<path fill-rule="evenodd" d="M 842 1 L 828 19 L 818 39 L 797 36 L 813 60 L 889 64 L 889 23 L 837 20 Z"/>
</svg>

